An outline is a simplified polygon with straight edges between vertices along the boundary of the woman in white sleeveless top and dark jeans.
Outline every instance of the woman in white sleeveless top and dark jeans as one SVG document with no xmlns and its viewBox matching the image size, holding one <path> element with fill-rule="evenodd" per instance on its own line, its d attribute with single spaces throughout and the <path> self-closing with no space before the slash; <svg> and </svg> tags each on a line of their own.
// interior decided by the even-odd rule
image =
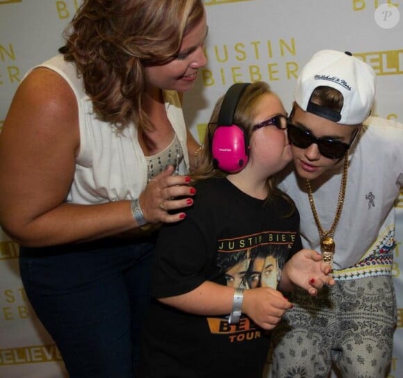
<svg viewBox="0 0 403 378">
<path fill-rule="evenodd" d="M 195 194 L 179 94 L 206 64 L 206 33 L 201 0 L 85 0 L 10 106 L 0 223 L 70 377 L 135 371 L 154 231 Z"/>
</svg>

